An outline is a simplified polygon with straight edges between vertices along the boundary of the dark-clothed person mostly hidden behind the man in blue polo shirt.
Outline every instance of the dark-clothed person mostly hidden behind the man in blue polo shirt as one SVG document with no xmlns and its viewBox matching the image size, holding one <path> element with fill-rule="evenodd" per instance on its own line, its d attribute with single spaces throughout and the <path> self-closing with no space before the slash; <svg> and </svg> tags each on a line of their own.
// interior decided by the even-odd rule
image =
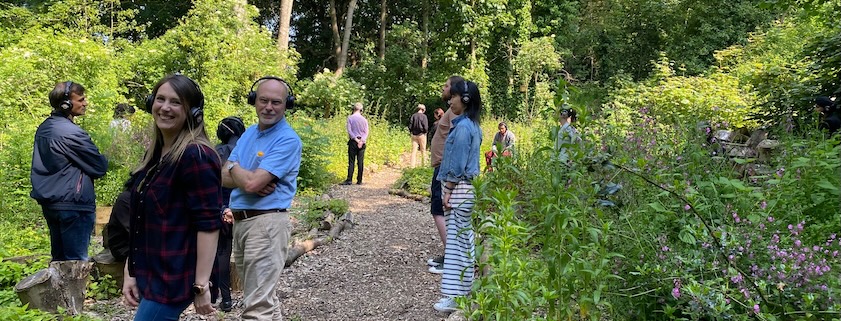
<svg viewBox="0 0 841 321">
<path fill-rule="evenodd" d="M 222 119 L 216 126 L 216 137 L 222 142 L 216 145 L 216 153 L 219 154 L 223 163 L 228 161 L 228 156 L 231 155 L 231 151 L 237 145 L 237 140 L 244 132 L 245 124 L 236 116 Z M 210 279 L 213 280 L 213 286 L 210 287 L 210 302 L 216 302 L 216 298 L 221 294 L 222 302 L 219 303 L 219 308 L 225 312 L 231 312 L 234 306 L 231 300 L 231 250 L 233 246 L 231 225 L 234 222 L 230 219 L 233 214 L 229 206 L 232 191 L 233 189 L 230 188 L 222 188 L 222 217 L 228 217 L 228 219 L 223 220 L 224 224 L 219 230 L 216 261 L 213 263 L 213 273 L 210 274 Z"/>
</svg>

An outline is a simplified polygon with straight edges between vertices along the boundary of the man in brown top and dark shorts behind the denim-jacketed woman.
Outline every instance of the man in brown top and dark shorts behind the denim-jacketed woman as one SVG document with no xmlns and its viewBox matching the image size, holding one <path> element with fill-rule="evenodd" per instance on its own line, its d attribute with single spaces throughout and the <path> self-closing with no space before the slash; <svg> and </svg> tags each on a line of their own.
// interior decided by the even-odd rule
<svg viewBox="0 0 841 321">
<path fill-rule="evenodd" d="M 457 84 L 464 81 L 460 76 L 450 76 L 444 86 L 441 87 L 441 99 L 449 104 L 450 101 L 450 87 L 452 84 Z M 438 119 L 435 135 L 432 136 L 432 144 L 430 144 L 430 152 L 432 154 L 432 182 L 429 197 L 429 212 L 432 214 L 432 220 L 435 223 L 435 229 L 438 230 L 438 236 L 441 238 L 441 245 L 447 246 L 447 220 L 444 217 L 444 203 L 441 195 L 441 181 L 438 180 L 438 171 L 441 167 L 441 158 L 444 155 L 444 143 L 447 141 L 447 135 L 450 133 L 452 127 L 452 119 L 456 115 L 453 111 L 448 109 L 446 112 L 442 111 L 440 119 Z M 426 261 L 429 265 L 429 272 L 435 274 L 444 273 L 444 256 L 439 255 L 430 258 Z"/>
</svg>

